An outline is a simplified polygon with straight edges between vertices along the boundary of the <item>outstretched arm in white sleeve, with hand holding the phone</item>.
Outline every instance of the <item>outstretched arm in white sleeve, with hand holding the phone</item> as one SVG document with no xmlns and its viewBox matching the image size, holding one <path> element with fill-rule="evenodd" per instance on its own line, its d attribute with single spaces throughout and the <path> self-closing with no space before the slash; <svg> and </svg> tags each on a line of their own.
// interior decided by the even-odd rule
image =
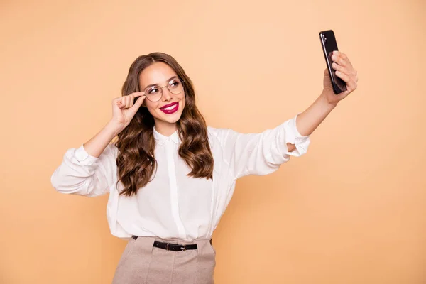
<svg viewBox="0 0 426 284">
<path fill-rule="evenodd" d="M 354 92 L 358 82 L 356 70 L 344 53 L 334 52 L 332 60 L 336 75 L 346 82 L 346 91 L 334 94 L 326 69 L 320 97 L 294 119 L 262 133 L 242 134 L 231 129 L 212 129 L 222 147 L 222 160 L 229 164 L 234 178 L 272 173 L 290 160 L 291 155 L 306 153 L 312 132 L 338 102 Z"/>
</svg>

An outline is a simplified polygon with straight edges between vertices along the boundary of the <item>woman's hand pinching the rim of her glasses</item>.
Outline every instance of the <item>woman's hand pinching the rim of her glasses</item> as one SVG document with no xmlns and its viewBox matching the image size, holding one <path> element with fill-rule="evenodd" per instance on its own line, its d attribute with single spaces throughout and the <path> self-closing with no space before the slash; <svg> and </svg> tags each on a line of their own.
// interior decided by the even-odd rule
<svg viewBox="0 0 426 284">
<path fill-rule="evenodd" d="M 133 104 L 134 99 L 138 97 Z M 134 92 L 123 97 L 112 100 L 112 122 L 123 130 L 130 124 L 131 119 L 135 116 L 143 100 L 146 98 L 144 92 Z"/>
</svg>

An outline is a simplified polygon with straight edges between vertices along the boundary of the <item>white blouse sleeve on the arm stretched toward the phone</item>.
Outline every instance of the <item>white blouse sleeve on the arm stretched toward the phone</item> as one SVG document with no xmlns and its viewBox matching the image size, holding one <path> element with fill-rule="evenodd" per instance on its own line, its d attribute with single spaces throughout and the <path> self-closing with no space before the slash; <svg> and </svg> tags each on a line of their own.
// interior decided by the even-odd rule
<svg viewBox="0 0 426 284">
<path fill-rule="evenodd" d="M 221 143 L 222 159 L 229 164 L 231 175 L 235 179 L 244 175 L 267 175 L 288 162 L 290 156 L 305 154 L 310 137 L 300 135 L 296 119 L 297 116 L 262 133 L 243 134 L 231 129 L 212 129 Z M 287 143 L 294 144 L 296 149 L 289 152 Z"/>
</svg>

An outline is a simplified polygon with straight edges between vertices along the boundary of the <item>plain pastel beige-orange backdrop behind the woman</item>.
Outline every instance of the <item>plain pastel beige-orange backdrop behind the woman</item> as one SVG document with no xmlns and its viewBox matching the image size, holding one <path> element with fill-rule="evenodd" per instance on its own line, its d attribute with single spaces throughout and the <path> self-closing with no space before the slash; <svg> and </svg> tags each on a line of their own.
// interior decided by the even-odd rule
<svg viewBox="0 0 426 284">
<path fill-rule="evenodd" d="M 217 230 L 225 283 L 425 283 L 424 1 L 1 1 L 0 283 L 110 283 L 107 196 L 61 195 L 67 148 L 111 117 L 129 65 L 173 55 L 209 125 L 272 128 L 320 94 L 334 29 L 359 89 Z"/>
</svg>

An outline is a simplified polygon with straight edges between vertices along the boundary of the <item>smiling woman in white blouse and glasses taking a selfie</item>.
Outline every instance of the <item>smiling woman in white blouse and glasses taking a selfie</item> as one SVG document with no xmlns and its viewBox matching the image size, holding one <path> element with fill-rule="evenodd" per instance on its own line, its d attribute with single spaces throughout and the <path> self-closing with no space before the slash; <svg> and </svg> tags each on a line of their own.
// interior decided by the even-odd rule
<svg viewBox="0 0 426 284">
<path fill-rule="evenodd" d="M 304 154 L 312 131 L 356 89 L 346 55 L 332 59 L 346 92 L 334 94 L 325 70 L 324 89 L 308 109 L 257 134 L 207 127 L 190 78 L 170 55 L 133 62 L 111 121 L 70 148 L 51 178 L 59 192 L 109 193 L 111 233 L 129 239 L 113 283 L 214 283 L 211 237 L 236 180 L 273 173 Z"/>
</svg>

